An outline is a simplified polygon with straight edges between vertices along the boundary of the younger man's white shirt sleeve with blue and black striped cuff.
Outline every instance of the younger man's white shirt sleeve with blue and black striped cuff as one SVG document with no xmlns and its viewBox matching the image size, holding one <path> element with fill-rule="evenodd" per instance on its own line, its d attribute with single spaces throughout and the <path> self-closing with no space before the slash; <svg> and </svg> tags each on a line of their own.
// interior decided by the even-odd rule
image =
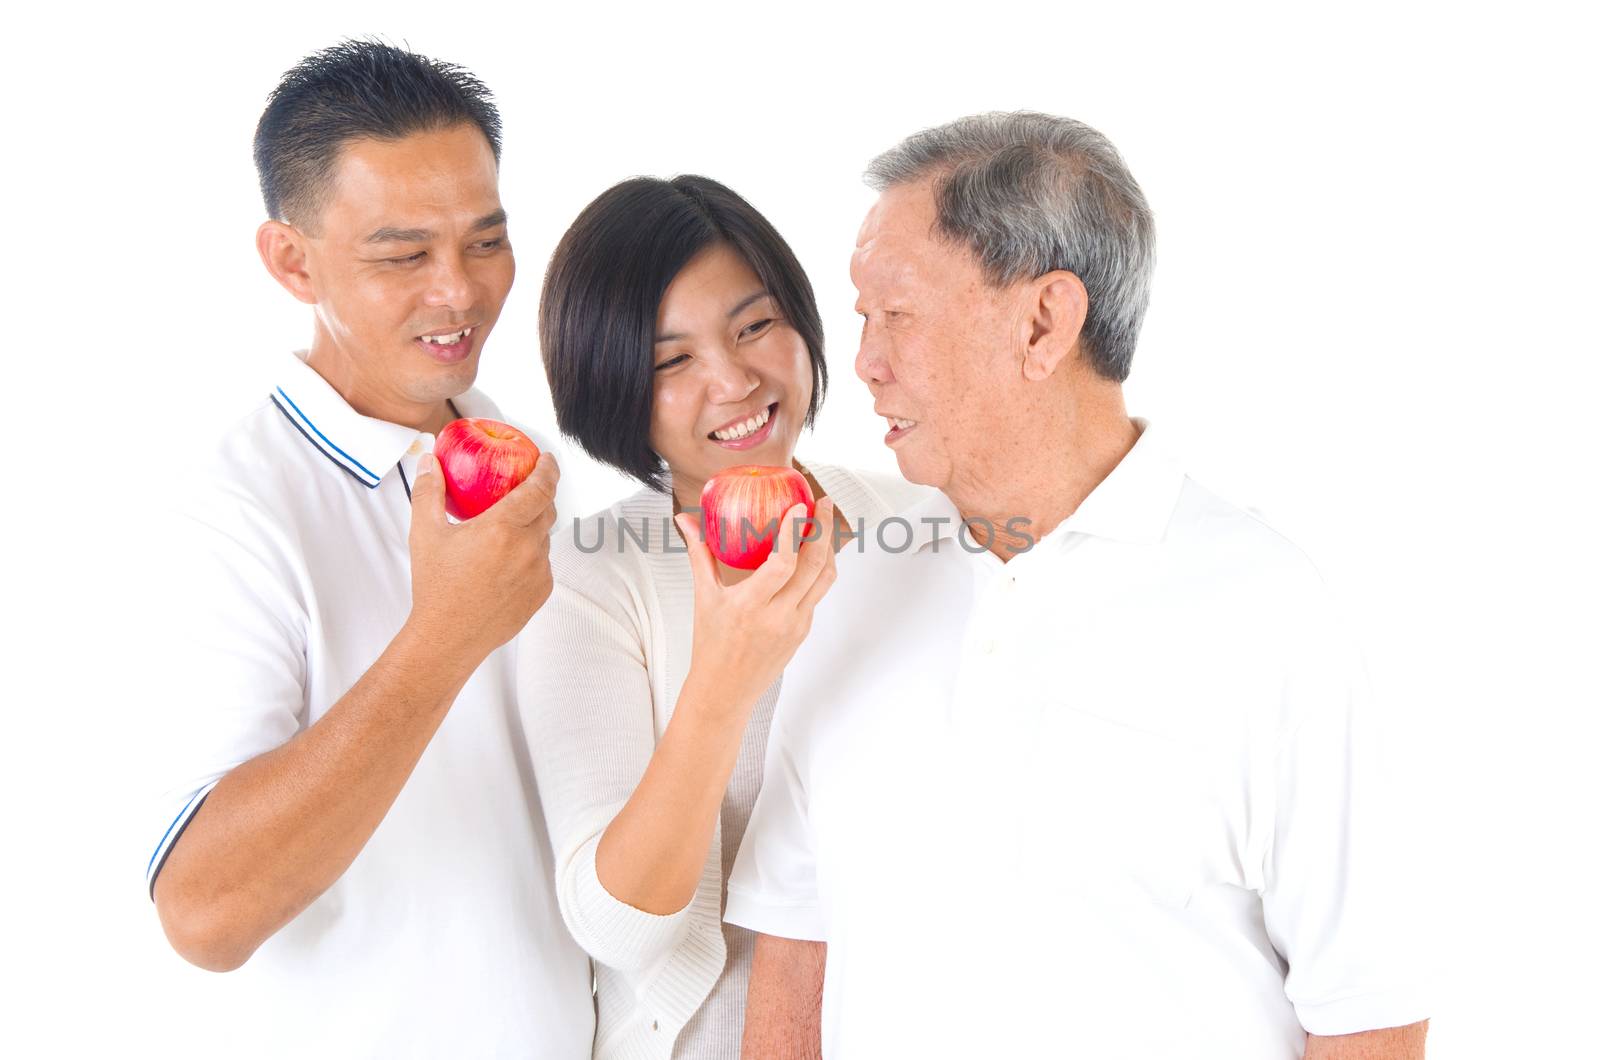
<svg viewBox="0 0 1600 1060">
<path fill-rule="evenodd" d="M 250 498 L 218 490 L 160 535 L 160 629 L 146 631 L 162 714 L 146 889 L 234 767 L 293 737 L 306 706 L 307 612 L 283 535 Z M 158 639 L 157 639 L 158 637 Z"/>
</svg>

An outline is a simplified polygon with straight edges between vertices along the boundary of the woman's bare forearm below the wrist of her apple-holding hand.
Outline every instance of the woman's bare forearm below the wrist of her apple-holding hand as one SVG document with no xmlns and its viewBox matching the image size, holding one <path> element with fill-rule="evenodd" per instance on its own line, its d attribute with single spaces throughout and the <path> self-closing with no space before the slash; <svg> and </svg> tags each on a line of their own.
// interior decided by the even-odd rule
<svg viewBox="0 0 1600 1060">
<path fill-rule="evenodd" d="M 658 916 L 690 903 L 747 719 L 749 705 L 725 703 L 693 673 L 683 682 L 645 775 L 595 850 L 595 874 L 611 897 Z"/>
</svg>

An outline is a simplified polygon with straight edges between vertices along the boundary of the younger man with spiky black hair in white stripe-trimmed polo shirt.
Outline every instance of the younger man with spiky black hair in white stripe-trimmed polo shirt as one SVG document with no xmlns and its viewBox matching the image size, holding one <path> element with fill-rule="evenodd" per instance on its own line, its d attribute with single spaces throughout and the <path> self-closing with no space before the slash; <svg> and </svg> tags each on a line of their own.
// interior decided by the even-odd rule
<svg viewBox="0 0 1600 1060">
<path fill-rule="evenodd" d="M 590 1054 L 509 647 L 550 592 L 558 469 L 539 439 L 451 524 L 430 453 L 502 418 L 472 389 L 515 274 L 499 136 L 475 77 L 368 42 L 290 70 L 256 130 L 256 247 L 315 327 L 171 535 L 147 868 L 178 953 L 251 983 L 235 1055 Z"/>
</svg>

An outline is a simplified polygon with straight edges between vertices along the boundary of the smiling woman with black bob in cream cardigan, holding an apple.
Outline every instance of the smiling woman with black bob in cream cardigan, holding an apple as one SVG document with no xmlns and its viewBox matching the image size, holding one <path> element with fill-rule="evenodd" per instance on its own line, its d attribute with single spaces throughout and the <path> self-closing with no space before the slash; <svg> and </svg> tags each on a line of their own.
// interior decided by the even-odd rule
<svg viewBox="0 0 1600 1060">
<path fill-rule="evenodd" d="M 733 570 L 685 509 L 736 464 L 800 469 L 845 536 L 925 493 L 794 460 L 827 383 L 816 301 L 715 181 L 600 195 L 557 247 L 539 317 L 562 431 L 645 484 L 558 535 L 555 591 L 518 647 L 562 916 L 595 961 L 595 1057 L 733 1058 L 754 935 L 722 922 L 723 881 L 834 548 L 784 533 Z"/>
</svg>

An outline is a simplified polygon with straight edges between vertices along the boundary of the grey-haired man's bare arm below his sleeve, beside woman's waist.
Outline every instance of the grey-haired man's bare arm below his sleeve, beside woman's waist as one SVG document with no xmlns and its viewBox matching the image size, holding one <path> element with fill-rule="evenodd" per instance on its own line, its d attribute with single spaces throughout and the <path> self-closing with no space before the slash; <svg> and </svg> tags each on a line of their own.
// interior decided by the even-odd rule
<svg viewBox="0 0 1600 1060">
<path fill-rule="evenodd" d="M 750 1060 L 819 1060 L 827 943 L 757 935 L 744 1002 Z"/>
</svg>

